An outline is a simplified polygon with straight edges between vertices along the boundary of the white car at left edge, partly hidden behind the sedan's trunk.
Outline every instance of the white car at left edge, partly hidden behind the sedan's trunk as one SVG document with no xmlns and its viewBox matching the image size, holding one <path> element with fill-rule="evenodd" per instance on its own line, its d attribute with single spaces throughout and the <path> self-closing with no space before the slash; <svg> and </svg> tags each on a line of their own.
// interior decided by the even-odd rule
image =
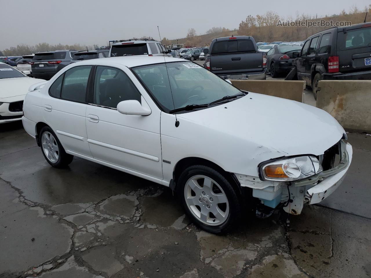
<svg viewBox="0 0 371 278">
<path fill-rule="evenodd" d="M 24 72 L 30 74 L 30 72 Z M 22 119 L 22 106 L 28 88 L 43 79 L 26 76 L 14 67 L 0 62 L 0 124 Z"/>
</svg>

